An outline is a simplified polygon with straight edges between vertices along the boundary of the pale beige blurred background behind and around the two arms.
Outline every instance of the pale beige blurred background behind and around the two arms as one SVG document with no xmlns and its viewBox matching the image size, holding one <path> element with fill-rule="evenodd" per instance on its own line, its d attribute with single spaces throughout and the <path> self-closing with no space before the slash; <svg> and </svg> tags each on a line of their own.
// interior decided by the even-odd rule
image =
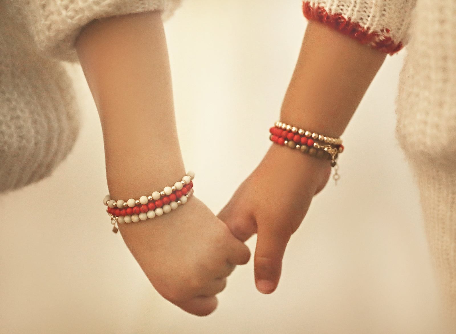
<svg viewBox="0 0 456 334">
<path fill-rule="evenodd" d="M 297 0 L 187 0 L 166 23 L 182 152 L 214 212 L 269 147 L 305 26 Z M 98 115 L 73 68 L 73 153 L 51 178 L 0 197 L 0 332 L 439 333 L 418 192 L 394 139 L 404 55 L 387 58 L 347 128 L 342 178 L 292 237 L 277 291 L 255 290 L 251 261 L 207 318 L 162 299 L 110 231 Z"/>
</svg>

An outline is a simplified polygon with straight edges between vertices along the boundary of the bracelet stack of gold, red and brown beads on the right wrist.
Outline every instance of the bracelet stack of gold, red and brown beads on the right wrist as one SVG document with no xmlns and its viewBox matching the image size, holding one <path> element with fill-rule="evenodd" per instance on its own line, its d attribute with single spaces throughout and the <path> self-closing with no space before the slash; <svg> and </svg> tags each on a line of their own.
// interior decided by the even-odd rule
<svg viewBox="0 0 456 334">
<path fill-rule="evenodd" d="M 316 134 L 283 122 L 276 122 L 269 132 L 271 133 L 269 139 L 274 143 L 286 145 L 290 149 L 299 149 L 302 153 L 317 158 L 331 160 L 331 166 L 336 170 L 334 180 L 339 179 L 337 158 L 339 153 L 343 152 L 342 139 Z"/>
</svg>

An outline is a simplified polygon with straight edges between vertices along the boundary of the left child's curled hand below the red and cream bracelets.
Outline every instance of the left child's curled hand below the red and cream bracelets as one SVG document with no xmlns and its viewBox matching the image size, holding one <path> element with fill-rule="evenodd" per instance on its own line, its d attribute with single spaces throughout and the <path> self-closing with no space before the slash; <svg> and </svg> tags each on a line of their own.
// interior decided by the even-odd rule
<svg viewBox="0 0 456 334">
<path fill-rule="evenodd" d="M 119 229 L 158 293 L 200 316 L 212 313 L 226 277 L 250 257 L 249 248 L 194 196 L 176 211 Z"/>
</svg>

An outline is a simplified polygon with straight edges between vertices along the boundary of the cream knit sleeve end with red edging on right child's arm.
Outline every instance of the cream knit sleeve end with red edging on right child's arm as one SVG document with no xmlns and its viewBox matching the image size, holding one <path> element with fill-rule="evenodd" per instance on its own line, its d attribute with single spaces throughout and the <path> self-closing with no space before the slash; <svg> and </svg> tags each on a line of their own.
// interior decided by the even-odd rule
<svg viewBox="0 0 456 334">
<path fill-rule="evenodd" d="M 407 43 L 410 14 L 416 0 L 303 1 L 308 20 L 316 20 L 344 35 L 390 55 Z"/>
</svg>

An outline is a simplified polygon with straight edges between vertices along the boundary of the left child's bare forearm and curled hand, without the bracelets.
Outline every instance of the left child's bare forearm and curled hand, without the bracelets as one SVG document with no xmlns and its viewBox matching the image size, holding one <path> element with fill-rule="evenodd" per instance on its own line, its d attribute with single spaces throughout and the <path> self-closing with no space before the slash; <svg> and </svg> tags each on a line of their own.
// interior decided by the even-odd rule
<svg viewBox="0 0 456 334">
<path fill-rule="evenodd" d="M 137 199 L 181 180 L 185 169 L 160 12 L 93 21 L 76 49 L 103 128 L 112 198 Z M 248 247 L 194 196 L 176 211 L 119 230 L 156 290 L 196 315 L 217 307 L 226 277 L 250 257 Z"/>
</svg>

